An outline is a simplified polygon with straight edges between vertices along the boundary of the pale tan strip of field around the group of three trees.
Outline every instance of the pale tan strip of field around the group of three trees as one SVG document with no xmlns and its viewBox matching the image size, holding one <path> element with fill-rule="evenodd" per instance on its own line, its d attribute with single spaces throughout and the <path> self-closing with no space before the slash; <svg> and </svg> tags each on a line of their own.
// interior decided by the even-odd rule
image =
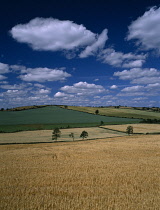
<svg viewBox="0 0 160 210">
<path fill-rule="evenodd" d="M 110 131 L 99 127 L 93 128 L 69 128 L 60 129 L 61 137 L 57 141 L 73 141 L 69 137 L 70 133 L 74 133 L 75 141 L 82 140 L 80 134 L 82 131 L 88 132 L 87 139 L 107 138 L 124 136 L 125 134 L 116 131 Z M 39 130 L 39 131 L 22 131 L 18 133 L 0 133 L 1 143 L 33 143 L 33 142 L 53 142 L 51 130 Z"/>
</svg>

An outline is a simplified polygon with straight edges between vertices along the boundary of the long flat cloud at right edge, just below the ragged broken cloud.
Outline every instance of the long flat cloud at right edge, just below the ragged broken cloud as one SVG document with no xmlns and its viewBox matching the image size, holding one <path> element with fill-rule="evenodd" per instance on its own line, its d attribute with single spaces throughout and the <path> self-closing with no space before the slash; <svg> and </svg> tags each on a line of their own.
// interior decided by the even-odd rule
<svg viewBox="0 0 160 210">
<path fill-rule="evenodd" d="M 131 83 L 149 84 L 160 80 L 160 71 L 155 68 L 133 68 L 114 73 L 121 80 L 131 80 Z"/>
</svg>

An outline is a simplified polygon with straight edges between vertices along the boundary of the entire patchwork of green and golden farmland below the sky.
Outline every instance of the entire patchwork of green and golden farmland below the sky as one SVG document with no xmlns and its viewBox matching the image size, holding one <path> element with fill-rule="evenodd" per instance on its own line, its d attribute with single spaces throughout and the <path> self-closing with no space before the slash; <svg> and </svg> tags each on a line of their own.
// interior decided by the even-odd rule
<svg viewBox="0 0 160 210">
<path fill-rule="evenodd" d="M 19 109 L 0 112 L 0 209 L 159 209 L 160 124 L 140 123 L 154 111 Z"/>
</svg>

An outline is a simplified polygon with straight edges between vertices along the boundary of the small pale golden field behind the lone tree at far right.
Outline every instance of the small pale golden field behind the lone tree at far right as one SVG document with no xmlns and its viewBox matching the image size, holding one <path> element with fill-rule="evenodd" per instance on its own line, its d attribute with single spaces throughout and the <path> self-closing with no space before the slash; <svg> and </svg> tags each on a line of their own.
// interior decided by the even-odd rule
<svg viewBox="0 0 160 210">
<path fill-rule="evenodd" d="M 133 126 L 134 133 L 160 133 L 160 124 L 126 124 L 126 125 L 105 125 L 103 128 L 109 128 L 117 131 L 126 132 L 127 126 Z"/>
</svg>

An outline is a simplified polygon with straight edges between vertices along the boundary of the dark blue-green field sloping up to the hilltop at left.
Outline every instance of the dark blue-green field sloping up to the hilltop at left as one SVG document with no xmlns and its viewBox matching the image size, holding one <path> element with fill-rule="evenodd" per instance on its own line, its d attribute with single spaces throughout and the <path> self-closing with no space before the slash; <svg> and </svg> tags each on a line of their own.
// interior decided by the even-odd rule
<svg viewBox="0 0 160 210">
<path fill-rule="evenodd" d="M 90 127 L 104 124 L 138 123 L 138 119 L 106 117 L 63 109 L 57 106 L 23 111 L 0 112 L 0 132 L 53 129 L 55 127 Z"/>
</svg>

